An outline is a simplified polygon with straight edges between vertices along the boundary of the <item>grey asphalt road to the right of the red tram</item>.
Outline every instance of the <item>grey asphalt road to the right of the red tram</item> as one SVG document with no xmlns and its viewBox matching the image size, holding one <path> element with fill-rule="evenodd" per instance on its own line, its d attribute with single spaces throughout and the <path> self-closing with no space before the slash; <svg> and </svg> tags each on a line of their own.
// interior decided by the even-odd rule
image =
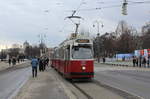
<svg viewBox="0 0 150 99">
<path fill-rule="evenodd" d="M 144 99 L 150 99 L 150 71 L 95 64 L 95 79 Z"/>
</svg>

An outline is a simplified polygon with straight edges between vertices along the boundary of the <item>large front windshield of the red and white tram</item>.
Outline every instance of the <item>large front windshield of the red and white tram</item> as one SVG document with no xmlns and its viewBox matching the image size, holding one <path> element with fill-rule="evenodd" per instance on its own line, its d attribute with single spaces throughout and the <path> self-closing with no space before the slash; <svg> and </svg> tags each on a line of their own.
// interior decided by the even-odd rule
<svg viewBox="0 0 150 99">
<path fill-rule="evenodd" d="M 92 59 L 92 47 L 90 46 L 73 46 L 72 47 L 73 59 Z"/>
</svg>

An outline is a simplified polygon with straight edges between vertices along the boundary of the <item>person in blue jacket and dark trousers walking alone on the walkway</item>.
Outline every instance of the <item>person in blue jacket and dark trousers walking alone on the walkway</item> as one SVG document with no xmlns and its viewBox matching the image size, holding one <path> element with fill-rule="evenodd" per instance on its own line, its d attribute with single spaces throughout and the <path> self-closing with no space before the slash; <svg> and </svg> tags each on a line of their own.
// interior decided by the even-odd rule
<svg viewBox="0 0 150 99">
<path fill-rule="evenodd" d="M 37 77 L 37 67 L 38 67 L 38 60 L 34 57 L 31 61 L 32 65 L 32 76 Z"/>
</svg>

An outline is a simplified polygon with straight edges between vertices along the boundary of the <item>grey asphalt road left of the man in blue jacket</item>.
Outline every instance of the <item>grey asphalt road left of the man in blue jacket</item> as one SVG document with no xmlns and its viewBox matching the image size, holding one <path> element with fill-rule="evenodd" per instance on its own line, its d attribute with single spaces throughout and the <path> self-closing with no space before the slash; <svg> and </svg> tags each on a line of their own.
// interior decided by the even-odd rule
<svg viewBox="0 0 150 99">
<path fill-rule="evenodd" d="M 0 74 L 0 99 L 11 99 L 31 75 L 31 67 Z"/>
</svg>

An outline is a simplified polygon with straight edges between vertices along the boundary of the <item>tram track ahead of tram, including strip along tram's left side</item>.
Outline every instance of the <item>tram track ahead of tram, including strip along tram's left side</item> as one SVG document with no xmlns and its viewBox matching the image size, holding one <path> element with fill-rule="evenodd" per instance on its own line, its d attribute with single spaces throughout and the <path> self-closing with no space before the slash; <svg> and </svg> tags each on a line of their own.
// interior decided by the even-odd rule
<svg viewBox="0 0 150 99">
<path fill-rule="evenodd" d="M 54 73 L 54 71 L 53 71 Z M 103 84 L 96 79 L 89 80 L 65 80 L 58 73 L 54 73 L 60 79 L 76 99 L 142 99 L 124 90 Z M 67 88 L 67 89 L 68 89 Z M 82 98 L 81 98 L 82 97 Z M 72 99 L 72 98 L 70 98 Z"/>
</svg>

